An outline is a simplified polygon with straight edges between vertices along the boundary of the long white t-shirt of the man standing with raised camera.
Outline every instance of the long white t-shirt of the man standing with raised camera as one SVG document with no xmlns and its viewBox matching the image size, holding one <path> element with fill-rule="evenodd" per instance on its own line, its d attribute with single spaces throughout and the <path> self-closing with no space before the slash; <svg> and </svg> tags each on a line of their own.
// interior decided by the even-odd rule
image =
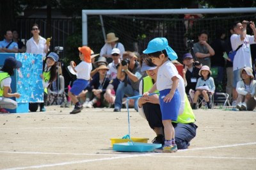
<svg viewBox="0 0 256 170">
<path fill-rule="evenodd" d="M 251 49 L 250 44 L 254 42 L 254 36 L 246 35 L 243 41 L 240 39 L 240 35 L 232 35 L 230 37 L 230 42 L 232 45 L 232 50 L 236 50 L 239 45 L 242 45 L 236 52 L 236 56 L 233 61 L 233 71 L 243 68 L 244 66 L 252 67 Z"/>
</svg>

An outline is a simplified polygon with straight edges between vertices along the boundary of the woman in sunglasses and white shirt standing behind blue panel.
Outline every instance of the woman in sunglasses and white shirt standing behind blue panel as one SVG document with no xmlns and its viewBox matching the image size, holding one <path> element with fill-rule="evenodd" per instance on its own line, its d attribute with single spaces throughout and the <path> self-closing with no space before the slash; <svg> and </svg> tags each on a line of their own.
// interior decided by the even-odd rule
<svg viewBox="0 0 256 170">
<path fill-rule="evenodd" d="M 38 24 L 33 24 L 31 33 L 33 36 L 26 43 L 26 52 L 42 54 L 43 58 L 45 58 L 47 52 L 49 52 L 50 43 L 46 43 L 45 38 L 39 35 L 40 29 Z"/>
</svg>

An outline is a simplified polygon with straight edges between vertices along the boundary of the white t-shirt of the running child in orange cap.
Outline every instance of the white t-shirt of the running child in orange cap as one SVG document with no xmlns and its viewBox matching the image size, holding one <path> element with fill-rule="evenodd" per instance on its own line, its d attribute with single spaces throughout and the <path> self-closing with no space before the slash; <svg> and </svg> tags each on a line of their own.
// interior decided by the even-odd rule
<svg viewBox="0 0 256 170">
<path fill-rule="evenodd" d="M 75 67 L 77 72 L 77 79 L 84 79 L 86 81 L 90 80 L 90 72 L 92 71 L 92 63 L 87 63 L 85 61 L 81 61 L 79 65 Z"/>
</svg>

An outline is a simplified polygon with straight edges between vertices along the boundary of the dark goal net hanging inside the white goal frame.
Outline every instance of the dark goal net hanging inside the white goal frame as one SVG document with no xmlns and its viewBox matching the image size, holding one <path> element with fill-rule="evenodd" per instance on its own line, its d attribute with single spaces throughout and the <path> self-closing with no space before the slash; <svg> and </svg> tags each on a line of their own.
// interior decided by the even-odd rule
<svg viewBox="0 0 256 170">
<path fill-rule="evenodd" d="M 256 21 L 256 14 L 251 15 L 88 15 L 88 45 L 99 52 L 104 45 L 105 33 L 113 32 L 124 44 L 125 50 L 137 51 L 140 54 L 147 48 L 147 43 L 156 37 L 166 37 L 169 45 L 177 52 L 179 59 L 189 51 L 188 40 L 198 42 L 198 35 L 202 30 L 209 33 L 208 42 L 216 38 L 217 28 L 226 30 L 226 38 L 230 36 L 230 25 L 235 20 Z M 252 34 L 250 27 L 248 34 Z M 102 43 L 99 43 L 102 42 Z"/>
</svg>

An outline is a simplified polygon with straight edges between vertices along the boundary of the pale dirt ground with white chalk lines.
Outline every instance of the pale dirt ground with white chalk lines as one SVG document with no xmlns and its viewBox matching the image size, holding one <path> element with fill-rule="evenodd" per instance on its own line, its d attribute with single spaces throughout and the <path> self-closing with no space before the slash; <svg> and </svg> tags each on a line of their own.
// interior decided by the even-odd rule
<svg viewBox="0 0 256 170">
<path fill-rule="evenodd" d="M 0 169 L 256 169 L 256 112 L 195 111 L 197 135 L 177 153 L 113 151 L 111 137 L 128 134 L 127 110 L 46 107 L 0 114 Z M 131 137 L 154 139 L 130 109 Z"/>
</svg>

